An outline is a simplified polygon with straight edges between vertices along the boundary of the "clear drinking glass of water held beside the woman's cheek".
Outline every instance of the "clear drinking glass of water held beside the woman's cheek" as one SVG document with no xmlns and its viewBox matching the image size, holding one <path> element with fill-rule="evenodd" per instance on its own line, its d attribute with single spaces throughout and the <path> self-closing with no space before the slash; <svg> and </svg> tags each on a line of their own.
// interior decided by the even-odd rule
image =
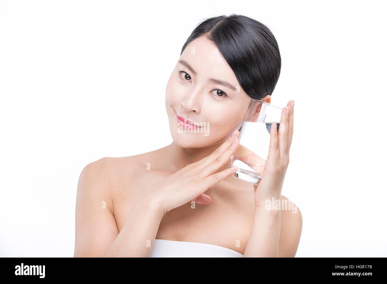
<svg viewBox="0 0 387 284">
<path fill-rule="evenodd" d="M 276 123 L 278 132 L 282 110 L 282 107 L 252 100 L 241 123 L 238 149 L 231 157 L 231 167 L 238 166 L 233 177 L 259 184 L 269 154 L 271 124 Z"/>
</svg>

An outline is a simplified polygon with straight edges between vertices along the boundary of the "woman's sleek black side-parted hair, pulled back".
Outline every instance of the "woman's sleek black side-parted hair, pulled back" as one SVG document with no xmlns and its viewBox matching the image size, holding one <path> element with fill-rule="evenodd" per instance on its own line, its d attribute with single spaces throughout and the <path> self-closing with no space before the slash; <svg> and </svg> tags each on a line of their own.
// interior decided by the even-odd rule
<svg viewBox="0 0 387 284">
<path fill-rule="evenodd" d="M 203 20 L 185 42 L 206 35 L 234 71 L 240 87 L 252 99 L 271 95 L 281 71 L 274 35 L 264 24 L 243 15 L 221 15 Z"/>
</svg>

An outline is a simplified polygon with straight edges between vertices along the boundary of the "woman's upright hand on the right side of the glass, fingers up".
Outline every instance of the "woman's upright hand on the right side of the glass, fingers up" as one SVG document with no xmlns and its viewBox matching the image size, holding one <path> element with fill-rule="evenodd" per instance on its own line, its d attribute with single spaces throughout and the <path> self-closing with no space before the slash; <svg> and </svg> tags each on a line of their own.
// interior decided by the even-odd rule
<svg viewBox="0 0 387 284">
<path fill-rule="evenodd" d="M 289 111 L 288 114 L 287 111 Z M 271 125 L 269 154 L 262 179 L 258 185 L 254 185 L 256 207 L 264 206 L 265 201 L 271 201 L 272 197 L 276 199 L 281 197 L 282 185 L 289 165 L 289 151 L 293 137 L 293 114 L 294 100 L 290 100 L 282 111 L 278 133 L 276 123 Z"/>
</svg>

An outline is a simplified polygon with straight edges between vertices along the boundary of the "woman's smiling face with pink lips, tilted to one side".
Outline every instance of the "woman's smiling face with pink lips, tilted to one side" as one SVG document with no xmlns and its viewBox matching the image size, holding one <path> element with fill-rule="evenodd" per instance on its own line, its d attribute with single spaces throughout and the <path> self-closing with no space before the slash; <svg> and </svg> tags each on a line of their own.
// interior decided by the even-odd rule
<svg viewBox="0 0 387 284">
<path fill-rule="evenodd" d="M 204 36 L 191 41 L 166 87 L 173 141 L 183 148 L 223 142 L 243 121 L 250 101 L 214 43 Z"/>
</svg>

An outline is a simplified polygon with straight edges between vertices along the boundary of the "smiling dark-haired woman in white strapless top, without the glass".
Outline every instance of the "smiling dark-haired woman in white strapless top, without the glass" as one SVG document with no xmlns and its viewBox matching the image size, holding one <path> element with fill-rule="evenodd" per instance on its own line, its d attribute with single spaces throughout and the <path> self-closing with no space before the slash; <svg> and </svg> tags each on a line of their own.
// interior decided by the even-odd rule
<svg viewBox="0 0 387 284">
<path fill-rule="evenodd" d="M 199 24 L 166 87 L 173 142 L 80 173 L 74 257 L 294 257 L 300 211 L 265 209 L 266 200 L 286 199 L 294 100 L 278 133 L 272 125 L 259 185 L 230 169 L 251 99 L 271 102 L 280 69 L 276 39 L 260 22 L 232 14 Z M 181 131 L 207 125 L 207 135 Z"/>
</svg>

